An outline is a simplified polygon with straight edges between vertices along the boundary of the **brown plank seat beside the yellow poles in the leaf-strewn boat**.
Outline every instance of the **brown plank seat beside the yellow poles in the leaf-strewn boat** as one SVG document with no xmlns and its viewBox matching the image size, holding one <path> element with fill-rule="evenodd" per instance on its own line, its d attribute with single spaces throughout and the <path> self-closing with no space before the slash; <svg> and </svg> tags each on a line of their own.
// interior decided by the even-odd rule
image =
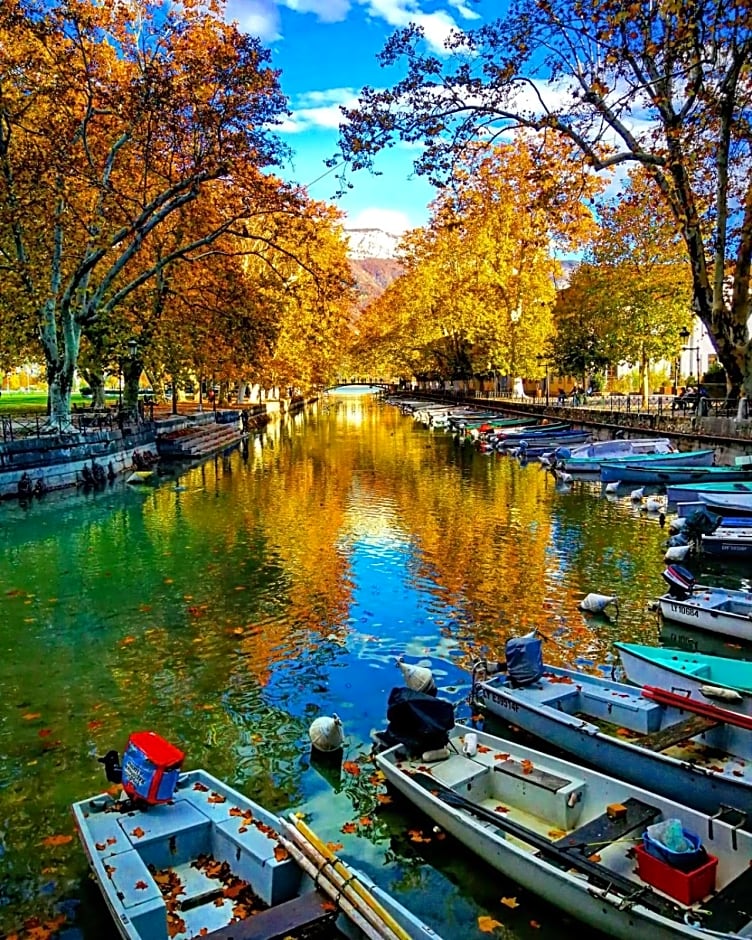
<svg viewBox="0 0 752 940">
<path fill-rule="evenodd" d="M 283 940 L 298 937 L 305 931 L 306 937 L 336 936 L 332 925 L 338 909 L 318 891 L 307 891 L 291 901 L 270 907 L 253 914 L 237 924 L 229 924 L 207 934 L 209 940 Z"/>
</svg>

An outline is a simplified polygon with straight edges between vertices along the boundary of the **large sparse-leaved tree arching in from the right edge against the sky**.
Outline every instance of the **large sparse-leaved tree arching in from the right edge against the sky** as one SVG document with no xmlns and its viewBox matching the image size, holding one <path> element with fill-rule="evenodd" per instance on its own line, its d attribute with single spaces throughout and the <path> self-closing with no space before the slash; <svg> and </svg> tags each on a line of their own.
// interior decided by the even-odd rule
<svg viewBox="0 0 752 940">
<path fill-rule="evenodd" d="M 643 166 L 683 238 L 694 312 L 752 396 L 751 28 L 746 3 L 516 0 L 440 58 L 411 25 L 381 55 L 405 77 L 361 92 L 342 153 L 358 169 L 397 139 L 420 143 L 418 170 L 439 182 L 469 143 L 524 126 L 597 171 Z"/>
</svg>

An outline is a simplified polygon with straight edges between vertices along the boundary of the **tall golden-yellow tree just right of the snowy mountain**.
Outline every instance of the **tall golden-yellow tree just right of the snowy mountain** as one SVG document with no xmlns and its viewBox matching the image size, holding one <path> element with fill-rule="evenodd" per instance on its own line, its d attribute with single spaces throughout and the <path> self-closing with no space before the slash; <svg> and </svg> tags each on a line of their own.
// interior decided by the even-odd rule
<svg viewBox="0 0 752 940">
<path fill-rule="evenodd" d="M 567 149 L 533 133 L 470 148 L 430 225 L 405 240 L 406 273 L 375 316 L 405 295 L 397 312 L 403 341 L 430 354 L 432 371 L 467 378 L 489 368 L 507 375 L 537 369 L 553 330 L 556 249 L 570 251 L 586 237 L 588 201 L 600 185 Z M 394 349 L 390 319 L 384 336 L 392 334 Z"/>
</svg>

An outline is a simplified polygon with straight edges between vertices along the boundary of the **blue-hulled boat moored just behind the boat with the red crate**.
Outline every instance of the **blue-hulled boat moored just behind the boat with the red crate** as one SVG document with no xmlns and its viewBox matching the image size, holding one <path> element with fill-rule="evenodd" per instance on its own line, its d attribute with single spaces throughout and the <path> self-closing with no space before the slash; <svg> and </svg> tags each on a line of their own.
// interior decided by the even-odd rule
<svg viewBox="0 0 752 940">
<path fill-rule="evenodd" d="M 752 778 L 739 775 L 752 759 L 752 718 L 738 716 L 740 727 L 712 706 L 698 716 L 684 700 L 660 704 L 634 686 L 548 665 L 517 685 L 476 663 L 471 700 L 578 761 L 694 809 L 752 804 Z"/>
</svg>

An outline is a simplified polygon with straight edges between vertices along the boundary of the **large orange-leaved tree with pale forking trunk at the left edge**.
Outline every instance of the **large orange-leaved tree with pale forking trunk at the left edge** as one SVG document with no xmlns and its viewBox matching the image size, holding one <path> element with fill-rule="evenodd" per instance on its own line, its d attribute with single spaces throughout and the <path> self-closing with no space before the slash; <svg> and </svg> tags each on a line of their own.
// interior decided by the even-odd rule
<svg viewBox="0 0 752 940">
<path fill-rule="evenodd" d="M 262 171 L 285 155 L 272 129 L 286 102 L 268 52 L 221 13 L 194 0 L 3 4 L 3 290 L 38 331 L 56 423 L 69 420 L 82 335 L 241 231 Z M 230 186 L 222 214 L 190 238 L 173 225 L 158 250 L 186 207 Z M 296 198 L 281 185 L 276 195 L 275 209 Z"/>
</svg>

